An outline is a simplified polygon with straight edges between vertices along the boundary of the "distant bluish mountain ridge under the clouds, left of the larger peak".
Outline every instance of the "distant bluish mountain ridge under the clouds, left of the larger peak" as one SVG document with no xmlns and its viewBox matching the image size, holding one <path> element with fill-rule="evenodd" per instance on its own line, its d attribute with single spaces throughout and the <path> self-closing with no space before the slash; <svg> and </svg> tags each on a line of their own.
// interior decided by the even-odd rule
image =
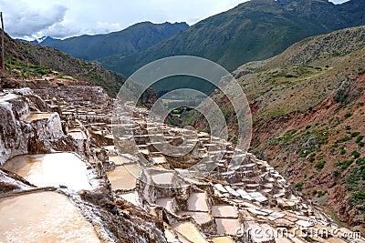
<svg viewBox="0 0 365 243">
<path fill-rule="evenodd" d="M 186 23 L 143 22 L 107 35 L 81 35 L 47 43 L 46 46 L 89 61 L 113 55 L 129 56 L 176 35 L 187 27 L 189 25 Z"/>
</svg>

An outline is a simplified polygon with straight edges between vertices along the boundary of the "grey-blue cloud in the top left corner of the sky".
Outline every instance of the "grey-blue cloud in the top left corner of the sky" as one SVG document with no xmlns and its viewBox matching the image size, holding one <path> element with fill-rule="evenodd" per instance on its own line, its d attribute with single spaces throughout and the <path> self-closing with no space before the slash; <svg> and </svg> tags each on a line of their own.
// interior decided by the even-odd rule
<svg viewBox="0 0 365 243">
<path fill-rule="evenodd" d="M 5 31 L 12 36 L 32 36 L 64 20 L 68 8 L 54 4 L 35 8 L 26 2 L 0 0 Z"/>
</svg>

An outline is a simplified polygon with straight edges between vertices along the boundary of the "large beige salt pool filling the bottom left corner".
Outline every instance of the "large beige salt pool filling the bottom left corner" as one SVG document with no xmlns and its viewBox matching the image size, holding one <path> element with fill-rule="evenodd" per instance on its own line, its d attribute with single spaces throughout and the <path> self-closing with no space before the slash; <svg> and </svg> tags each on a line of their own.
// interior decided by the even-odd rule
<svg viewBox="0 0 365 243">
<path fill-rule="evenodd" d="M 39 192 L 0 199 L 0 242 L 100 242 L 68 197 Z"/>
</svg>

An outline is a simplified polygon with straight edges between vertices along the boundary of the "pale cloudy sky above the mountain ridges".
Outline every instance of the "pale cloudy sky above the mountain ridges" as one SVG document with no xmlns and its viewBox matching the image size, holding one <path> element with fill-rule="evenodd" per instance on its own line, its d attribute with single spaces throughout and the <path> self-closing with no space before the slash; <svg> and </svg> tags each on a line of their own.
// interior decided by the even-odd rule
<svg viewBox="0 0 365 243">
<path fill-rule="evenodd" d="M 247 0 L 0 0 L 5 31 L 13 37 L 65 38 L 103 34 L 135 23 L 187 22 L 193 25 Z M 330 0 L 339 4 L 347 0 Z"/>
</svg>

